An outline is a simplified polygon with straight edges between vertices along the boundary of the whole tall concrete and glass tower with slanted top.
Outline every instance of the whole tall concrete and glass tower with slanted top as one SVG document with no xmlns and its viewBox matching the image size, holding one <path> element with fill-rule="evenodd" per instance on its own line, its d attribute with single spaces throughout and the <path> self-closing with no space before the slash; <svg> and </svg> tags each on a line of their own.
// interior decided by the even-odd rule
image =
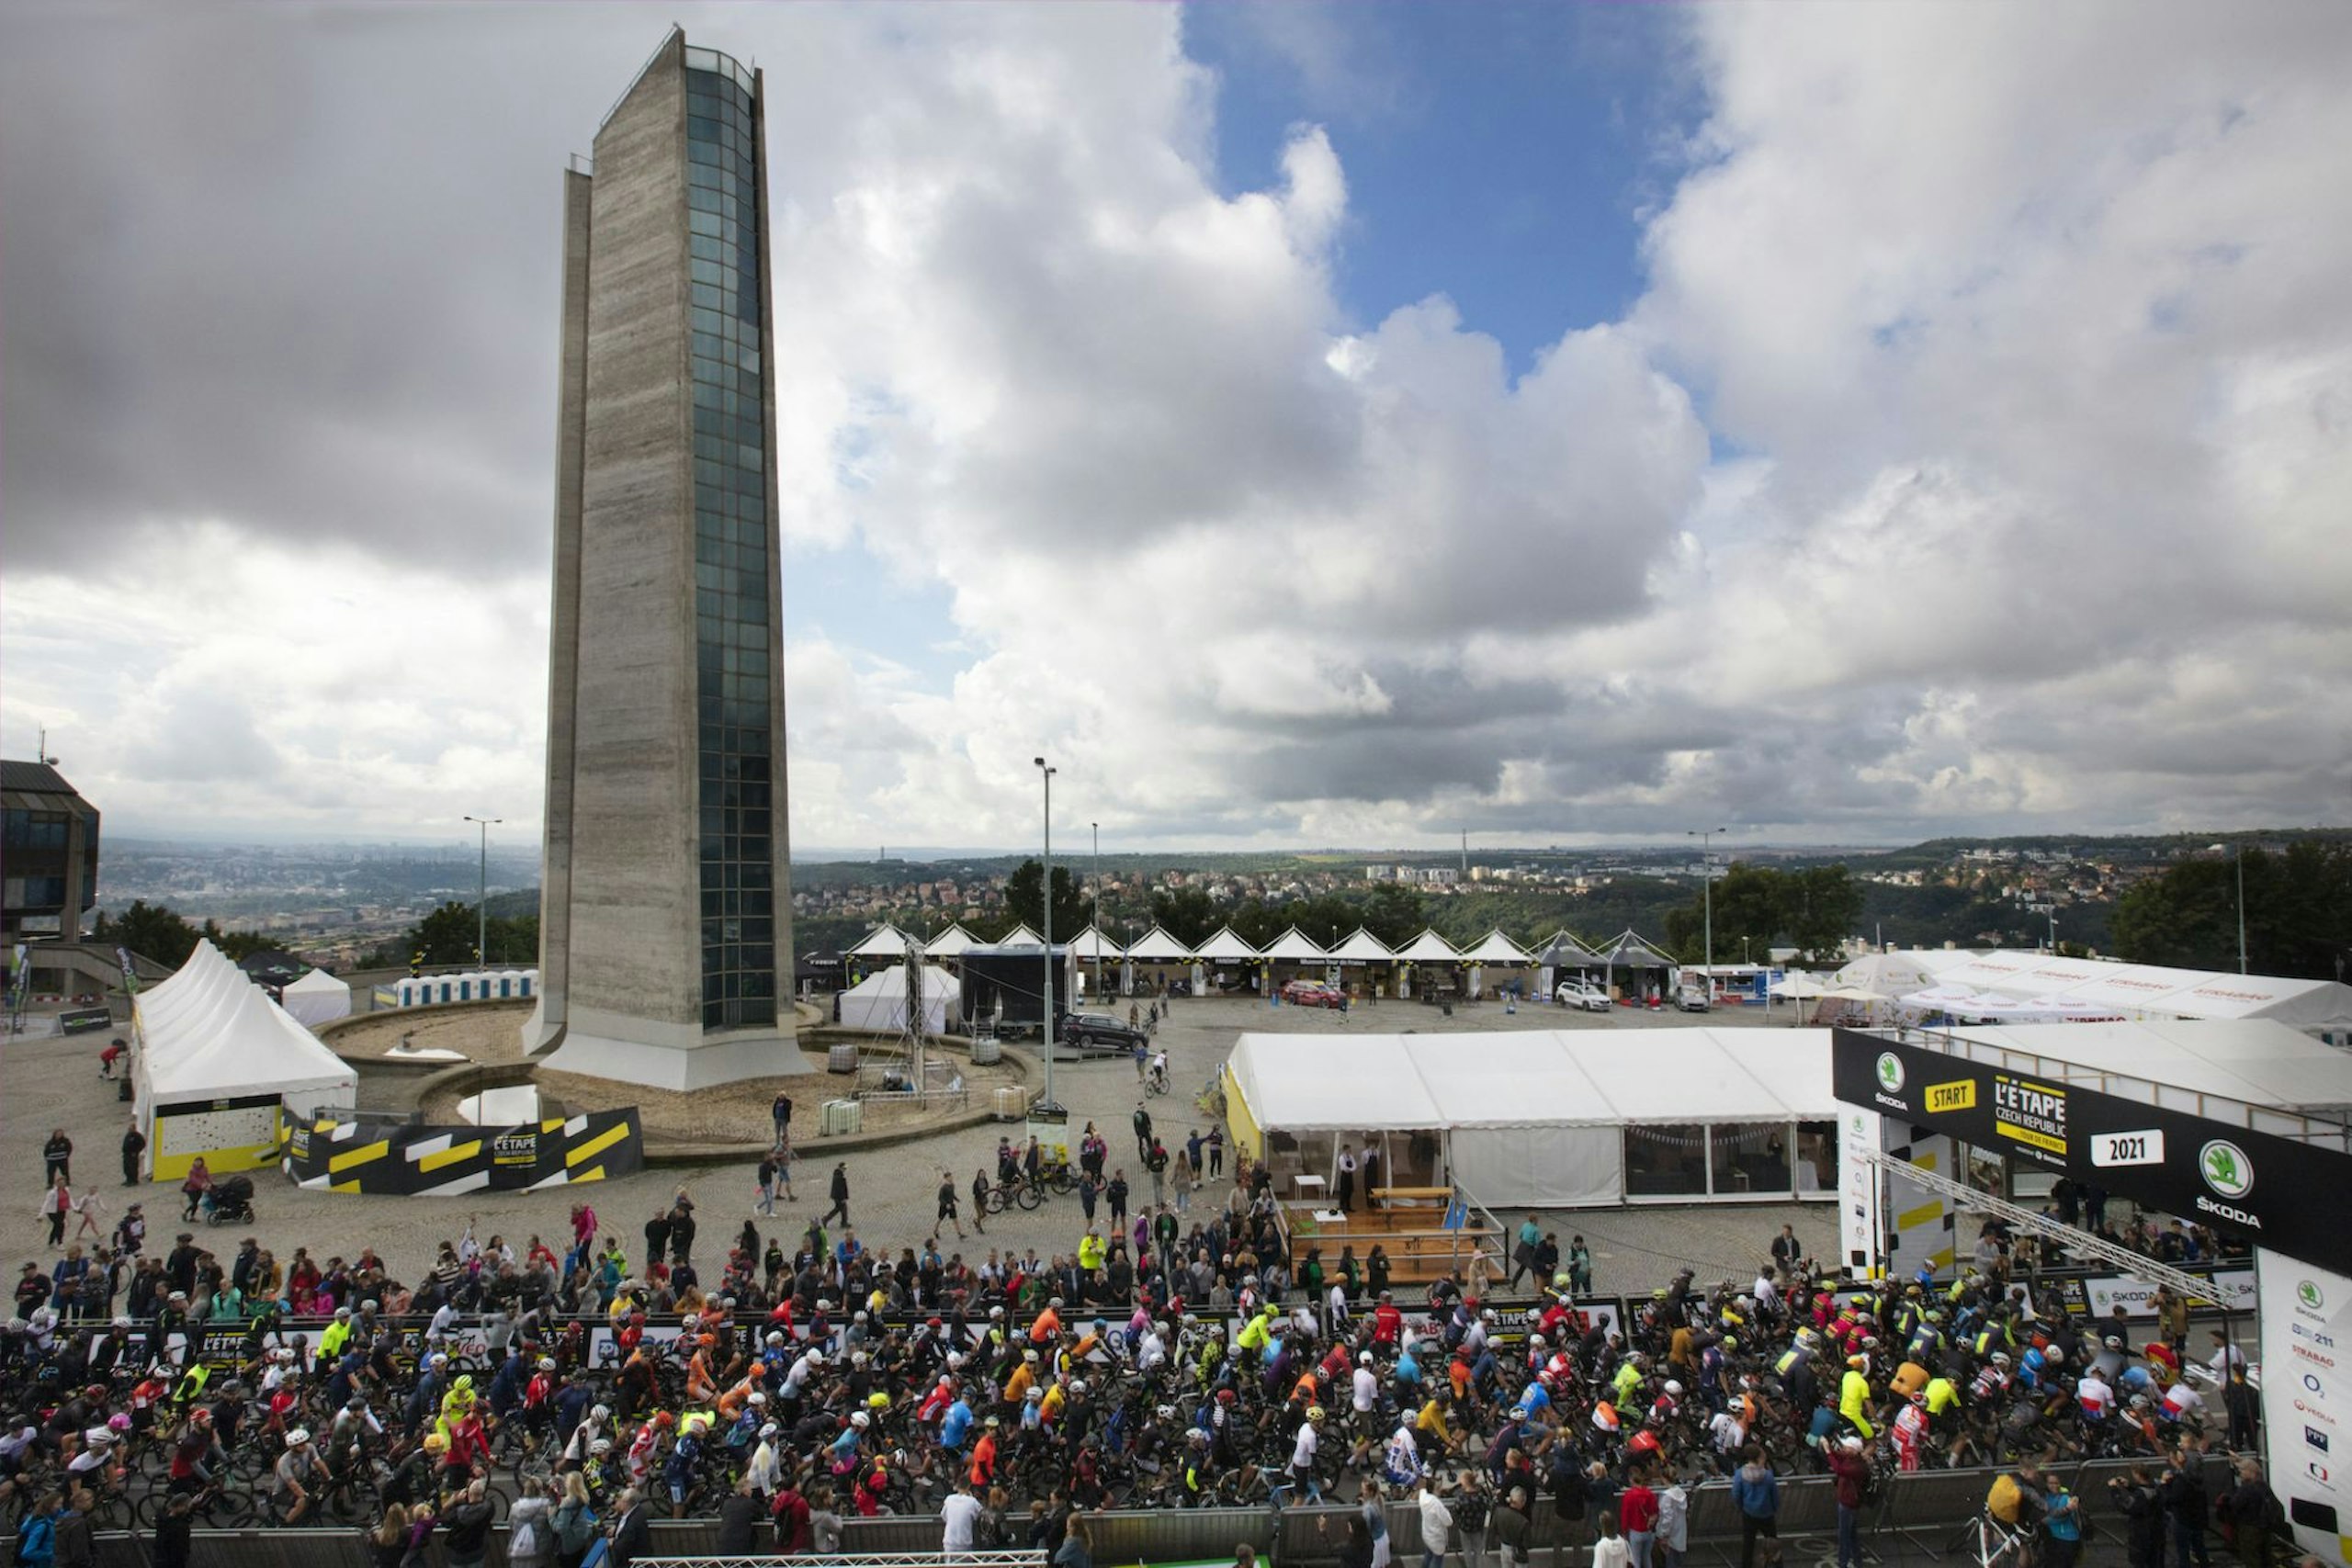
<svg viewBox="0 0 2352 1568">
<path fill-rule="evenodd" d="M 564 174 L 539 1009 L 564 1072 L 807 1072 L 760 73 L 677 28 Z"/>
</svg>

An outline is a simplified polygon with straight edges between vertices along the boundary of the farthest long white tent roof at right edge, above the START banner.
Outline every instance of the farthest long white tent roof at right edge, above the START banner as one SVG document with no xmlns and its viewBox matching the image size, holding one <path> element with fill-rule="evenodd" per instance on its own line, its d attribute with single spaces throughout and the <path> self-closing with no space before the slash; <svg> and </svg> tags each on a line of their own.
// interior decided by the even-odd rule
<svg viewBox="0 0 2352 1568">
<path fill-rule="evenodd" d="M 1877 952 L 1837 971 L 1912 1018 L 1971 1023 L 2070 1023 L 2164 1018 L 2265 1018 L 2352 1041 L 2352 985 L 2291 976 L 2237 976 L 2159 964 L 2067 959 L 2053 952 Z"/>
</svg>

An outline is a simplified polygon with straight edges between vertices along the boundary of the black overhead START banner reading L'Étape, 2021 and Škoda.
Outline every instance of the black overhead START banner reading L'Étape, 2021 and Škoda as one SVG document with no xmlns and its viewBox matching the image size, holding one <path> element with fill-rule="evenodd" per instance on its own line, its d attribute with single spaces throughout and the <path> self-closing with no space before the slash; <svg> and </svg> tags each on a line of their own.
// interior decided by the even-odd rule
<svg viewBox="0 0 2352 1568">
<path fill-rule="evenodd" d="M 1830 1072 L 1846 1105 L 2002 1150 L 2246 1246 L 2352 1272 L 2352 1225 L 2314 1201 L 2352 1192 L 2352 1154 L 1858 1030 L 1832 1032 Z"/>
</svg>

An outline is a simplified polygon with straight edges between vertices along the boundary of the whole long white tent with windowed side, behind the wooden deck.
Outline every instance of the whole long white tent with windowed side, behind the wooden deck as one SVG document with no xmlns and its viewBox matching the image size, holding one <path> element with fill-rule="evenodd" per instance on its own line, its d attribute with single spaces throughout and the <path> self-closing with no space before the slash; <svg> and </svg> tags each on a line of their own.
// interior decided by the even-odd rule
<svg viewBox="0 0 2352 1568">
<path fill-rule="evenodd" d="M 1319 1171 L 1338 1140 L 1428 1135 L 1489 1208 L 1578 1208 L 1835 1187 L 1825 1032 L 1658 1030 L 1639 1056 L 1588 1030 L 1242 1034 L 1235 1138 Z M 1395 1171 L 1395 1166 L 1390 1166 Z"/>
</svg>

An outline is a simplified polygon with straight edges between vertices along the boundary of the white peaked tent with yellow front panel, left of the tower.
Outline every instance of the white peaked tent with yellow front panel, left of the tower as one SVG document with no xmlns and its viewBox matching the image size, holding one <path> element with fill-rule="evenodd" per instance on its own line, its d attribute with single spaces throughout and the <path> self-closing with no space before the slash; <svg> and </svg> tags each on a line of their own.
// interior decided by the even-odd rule
<svg viewBox="0 0 2352 1568">
<path fill-rule="evenodd" d="M 212 943 L 198 943 L 174 976 L 132 997 L 132 1027 L 134 1117 L 155 1180 L 186 1175 L 198 1154 L 214 1171 L 270 1164 L 280 1105 L 310 1114 L 348 1107 L 358 1091 L 350 1063 Z"/>
</svg>

